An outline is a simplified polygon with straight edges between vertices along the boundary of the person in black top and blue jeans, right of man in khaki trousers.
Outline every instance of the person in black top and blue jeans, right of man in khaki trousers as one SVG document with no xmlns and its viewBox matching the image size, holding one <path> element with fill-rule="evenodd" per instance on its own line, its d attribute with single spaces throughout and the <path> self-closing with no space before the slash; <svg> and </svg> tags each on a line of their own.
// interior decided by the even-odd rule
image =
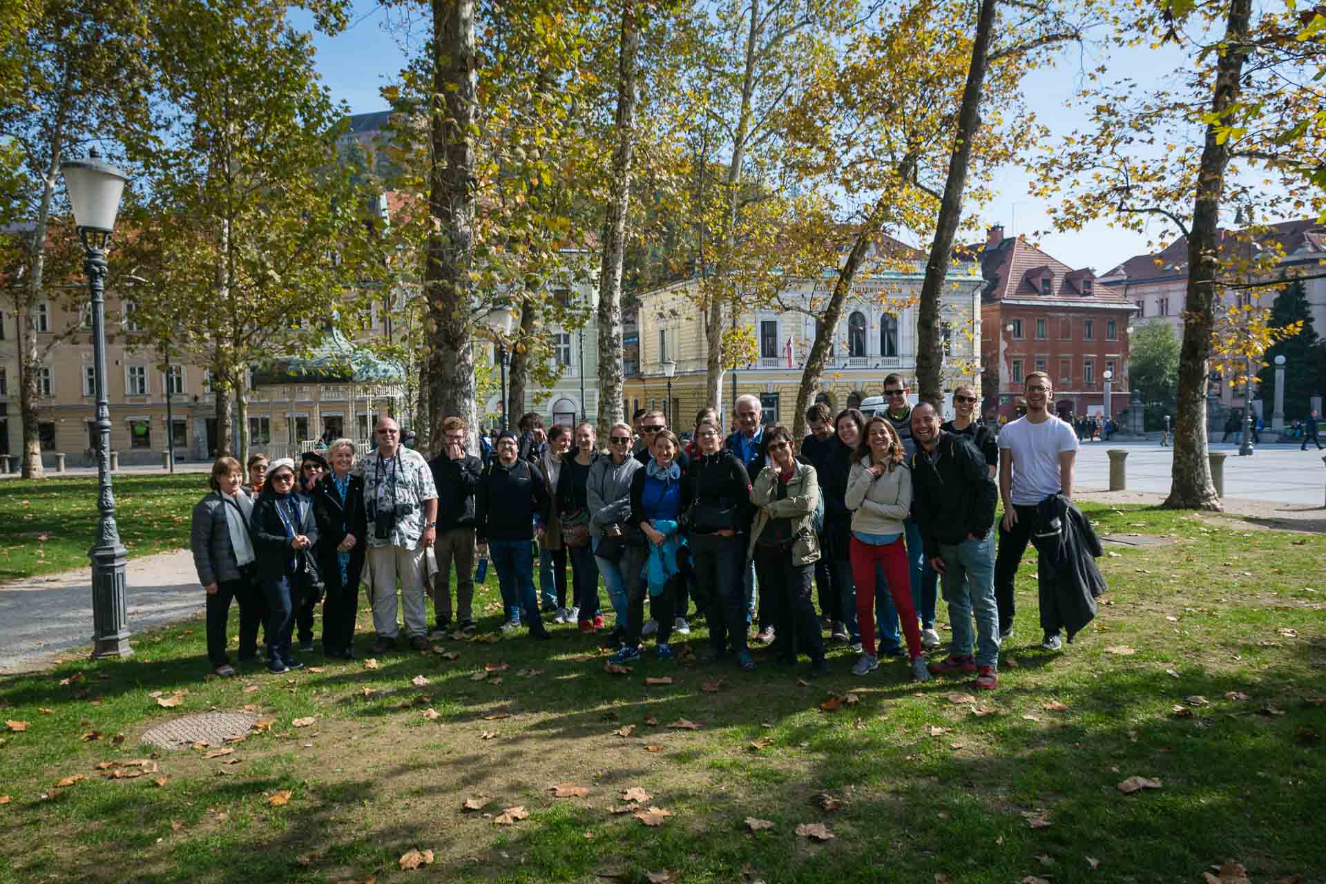
<svg viewBox="0 0 1326 884">
<path fill-rule="evenodd" d="M 484 469 L 475 494 L 479 551 L 492 547 L 493 569 L 501 584 L 507 615 L 503 632 L 511 634 L 520 628 L 524 608 L 529 637 L 549 637 L 538 616 L 530 542 L 534 539 L 534 520 L 546 520 L 550 504 L 542 477 L 530 464 L 520 460 L 516 433 L 503 431 L 497 436 L 497 460 Z"/>
</svg>

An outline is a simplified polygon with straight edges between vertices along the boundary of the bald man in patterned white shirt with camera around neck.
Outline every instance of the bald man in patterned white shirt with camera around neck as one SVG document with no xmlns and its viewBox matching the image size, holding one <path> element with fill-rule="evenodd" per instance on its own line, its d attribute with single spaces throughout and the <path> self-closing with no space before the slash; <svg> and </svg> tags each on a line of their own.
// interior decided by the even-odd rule
<svg viewBox="0 0 1326 884">
<path fill-rule="evenodd" d="M 438 488 L 428 461 L 402 447 L 400 427 L 378 421 L 378 448 L 363 461 L 363 502 L 369 510 L 365 566 L 373 598 L 374 653 L 396 643 L 396 580 L 410 647 L 428 649 L 428 612 L 423 603 L 424 553 L 438 539 Z"/>
</svg>

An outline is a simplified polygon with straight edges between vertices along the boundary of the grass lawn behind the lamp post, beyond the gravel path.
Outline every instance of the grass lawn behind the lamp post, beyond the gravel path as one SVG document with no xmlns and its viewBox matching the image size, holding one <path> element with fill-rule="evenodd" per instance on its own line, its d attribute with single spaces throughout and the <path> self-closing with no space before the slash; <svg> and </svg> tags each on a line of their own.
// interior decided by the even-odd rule
<svg viewBox="0 0 1326 884">
<path fill-rule="evenodd" d="M 115 524 L 134 557 L 188 546 L 188 520 L 207 473 L 115 476 Z M 0 580 L 88 567 L 97 542 L 97 480 L 0 482 Z"/>
</svg>

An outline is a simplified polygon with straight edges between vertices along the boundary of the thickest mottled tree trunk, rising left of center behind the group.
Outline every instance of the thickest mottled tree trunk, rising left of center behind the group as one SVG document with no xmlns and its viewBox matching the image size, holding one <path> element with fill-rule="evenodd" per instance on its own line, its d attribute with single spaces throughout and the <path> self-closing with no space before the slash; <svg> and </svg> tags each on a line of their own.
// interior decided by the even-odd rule
<svg viewBox="0 0 1326 884">
<path fill-rule="evenodd" d="M 468 427 L 479 423 L 471 347 L 475 304 L 469 282 L 477 199 L 471 135 L 477 101 L 473 0 L 432 0 L 432 52 L 428 209 L 434 224 L 426 247 L 423 284 L 430 337 L 428 436 L 432 453 L 438 453 L 447 416 L 456 415 Z"/>
</svg>

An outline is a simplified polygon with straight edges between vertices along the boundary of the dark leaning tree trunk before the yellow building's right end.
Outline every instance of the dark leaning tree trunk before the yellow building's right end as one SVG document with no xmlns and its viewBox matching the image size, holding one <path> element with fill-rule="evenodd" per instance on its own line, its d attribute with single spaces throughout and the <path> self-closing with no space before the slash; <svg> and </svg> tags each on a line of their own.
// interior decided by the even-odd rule
<svg viewBox="0 0 1326 884">
<path fill-rule="evenodd" d="M 916 398 L 939 406 L 944 399 L 944 343 L 939 329 L 939 305 L 944 297 L 948 266 L 953 256 L 953 237 L 963 216 L 963 191 L 972 162 L 972 142 L 981 127 L 981 90 L 989 65 L 991 32 L 994 28 L 994 0 L 981 0 L 972 42 L 972 66 L 963 86 L 963 103 L 957 111 L 957 135 L 948 158 L 944 197 L 939 204 L 935 239 L 926 262 L 926 280 L 920 286 L 916 309 Z"/>
</svg>

